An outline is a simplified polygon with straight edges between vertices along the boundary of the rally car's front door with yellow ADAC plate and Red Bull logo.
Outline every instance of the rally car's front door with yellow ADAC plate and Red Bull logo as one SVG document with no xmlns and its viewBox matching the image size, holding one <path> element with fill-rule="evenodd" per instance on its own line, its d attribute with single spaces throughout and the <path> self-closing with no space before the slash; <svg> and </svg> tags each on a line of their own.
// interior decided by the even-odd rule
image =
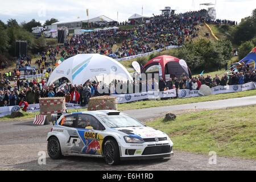
<svg viewBox="0 0 256 182">
<path fill-rule="evenodd" d="M 86 127 L 92 127 L 93 129 L 86 129 Z M 77 131 L 82 138 L 84 147 L 82 148 L 82 154 L 87 155 L 102 155 L 102 131 L 105 128 L 93 115 L 79 114 L 77 116 Z"/>
</svg>

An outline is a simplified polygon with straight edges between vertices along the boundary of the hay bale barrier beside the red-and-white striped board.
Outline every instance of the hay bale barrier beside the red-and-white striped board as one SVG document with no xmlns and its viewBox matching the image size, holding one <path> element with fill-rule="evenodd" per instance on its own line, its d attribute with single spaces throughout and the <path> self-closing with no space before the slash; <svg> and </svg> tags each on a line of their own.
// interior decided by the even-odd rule
<svg viewBox="0 0 256 182">
<path fill-rule="evenodd" d="M 51 115 L 64 113 L 66 110 L 65 97 L 39 98 L 40 114 L 47 115 L 48 121 L 52 121 Z"/>
</svg>

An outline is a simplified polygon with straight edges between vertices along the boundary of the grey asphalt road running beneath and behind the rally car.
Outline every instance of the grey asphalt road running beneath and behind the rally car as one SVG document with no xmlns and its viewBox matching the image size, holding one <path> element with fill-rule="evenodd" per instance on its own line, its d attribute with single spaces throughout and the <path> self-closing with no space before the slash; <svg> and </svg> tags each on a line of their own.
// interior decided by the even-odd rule
<svg viewBox="0 0 256 182">
<path fill-rule="evenodd" d="M 221 109 L 225 107 L 256 105 L 256 96 L 230 100 L 200 102 L 140 110 L 125 113 L 144 120 L 163 116 L 167 112 L 179 113 L 191 109 Z M 256 160 L 217 156 L 216 164 L 209 164 L 208 155 L 175 151 L 171 159 L 122 162 L 109 167 L 104 159 L 66 156 L 52 160 L 46 152 L 46 135 L 51 125 L 34 126 L 31 119 L 0 122 L 0 170 L 256 170 Z M 175 147 L 174 147 L 175 148 Z M 38 152 L 46 152 L 46 164 L 38 164 Z"/>
</svg>

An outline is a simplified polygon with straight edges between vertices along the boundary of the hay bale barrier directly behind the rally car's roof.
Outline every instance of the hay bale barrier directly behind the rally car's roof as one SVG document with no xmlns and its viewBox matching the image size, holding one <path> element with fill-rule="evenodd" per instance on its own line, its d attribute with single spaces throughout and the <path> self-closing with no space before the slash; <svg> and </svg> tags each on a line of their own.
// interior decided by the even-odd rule
<svg viewBox="0 0 256 182">
<path fill-rule="evenodd" d="M 113 96 L 92 97 L 88 110 L 117 110 L 117 98 Z"/>
</svg>

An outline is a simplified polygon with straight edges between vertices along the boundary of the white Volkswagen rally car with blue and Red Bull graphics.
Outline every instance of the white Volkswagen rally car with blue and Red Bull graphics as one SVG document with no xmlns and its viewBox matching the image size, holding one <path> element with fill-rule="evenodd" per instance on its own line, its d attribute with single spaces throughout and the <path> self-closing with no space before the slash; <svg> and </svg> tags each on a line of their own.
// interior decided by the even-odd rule
<svg viewBox="0 0 256 182">
<path fill-rule="evenodd" d="M 173 154 L 168 135 L 113 110 L 62 114 L 47 140 L 52 159 L 95 156 L 112 165 L 119 160 L 168 158 Z"/>
</svg>

